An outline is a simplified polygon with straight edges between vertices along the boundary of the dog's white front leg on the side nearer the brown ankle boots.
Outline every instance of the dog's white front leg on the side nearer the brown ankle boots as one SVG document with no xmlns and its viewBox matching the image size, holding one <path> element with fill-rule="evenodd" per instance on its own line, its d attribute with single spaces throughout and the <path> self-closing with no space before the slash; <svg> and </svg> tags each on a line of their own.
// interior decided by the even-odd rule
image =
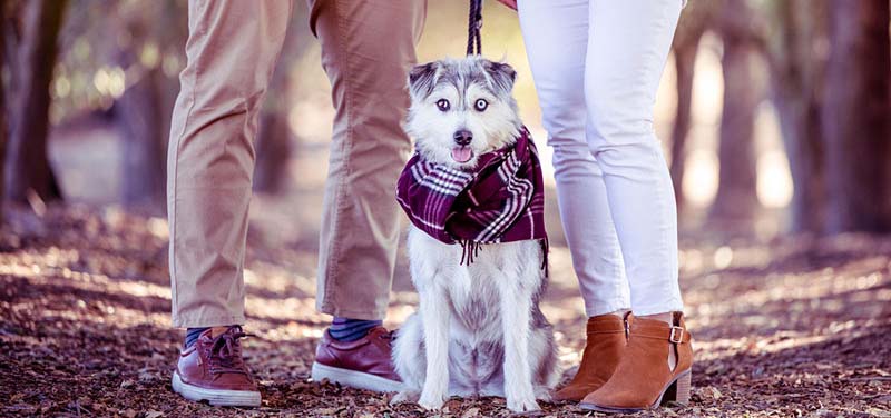
<svg viewBox="0 0 891 418">
<path fill-rule="evenodd" d="M 520 269 L 520 275 L 529 272 Z M 501 321 L 505 332 L 505 397 L 508 409 L 515 412 L 538 410 L 532 390 L 532 370 L 529 365 L 529 335 L 531 332 L 532 295 L 528 278 L 500 278 Z"/>
</svg>

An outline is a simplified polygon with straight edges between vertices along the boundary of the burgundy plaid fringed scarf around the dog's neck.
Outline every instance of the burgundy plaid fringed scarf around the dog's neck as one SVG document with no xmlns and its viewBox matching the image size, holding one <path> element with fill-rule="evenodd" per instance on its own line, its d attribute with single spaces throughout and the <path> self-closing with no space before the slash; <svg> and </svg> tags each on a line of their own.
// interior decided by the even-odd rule
<svg viewBox="0 0 891 418">
<path fill-rule="evenodd" d="M 538 150 L 526 128 L 512 146 L 487 152 L 463 171 L 415 153 L 399 177 L 396 200 L 411 222 L 463 247 L 470 263 L 483 243 L 540 240 L 547 267 L 545 188 Z"/>
</svg>

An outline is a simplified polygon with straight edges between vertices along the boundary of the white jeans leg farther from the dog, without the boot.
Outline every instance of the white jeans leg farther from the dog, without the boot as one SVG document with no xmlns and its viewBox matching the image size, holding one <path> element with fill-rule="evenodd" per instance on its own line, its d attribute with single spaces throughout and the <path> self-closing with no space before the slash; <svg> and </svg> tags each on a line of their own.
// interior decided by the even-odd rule
<svg viewBox="0 0 891 418">
<path fill-rule="evenodd" d="M 637 316 L 683 309 L 674 189 L 653 129 L 681 8 L 682 0 L 591 0 L 589 8 L 588 145 L 604 172 Z"/>
</svg>

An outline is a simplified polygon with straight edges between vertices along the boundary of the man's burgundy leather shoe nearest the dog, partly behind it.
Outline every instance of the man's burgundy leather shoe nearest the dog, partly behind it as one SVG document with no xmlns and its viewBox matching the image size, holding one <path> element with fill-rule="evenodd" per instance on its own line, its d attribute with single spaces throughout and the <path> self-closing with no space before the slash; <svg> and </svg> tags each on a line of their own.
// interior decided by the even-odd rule
<svg viewBox="0 0 891 418">
<path fill-rule="evenodd" d="M 315 348 L 312 378 L 380 392 L 402 390 L 393 369 L 392 332 L 374 327 L 355 341 L 337 341 L 325 331 Z"/>
</svg>

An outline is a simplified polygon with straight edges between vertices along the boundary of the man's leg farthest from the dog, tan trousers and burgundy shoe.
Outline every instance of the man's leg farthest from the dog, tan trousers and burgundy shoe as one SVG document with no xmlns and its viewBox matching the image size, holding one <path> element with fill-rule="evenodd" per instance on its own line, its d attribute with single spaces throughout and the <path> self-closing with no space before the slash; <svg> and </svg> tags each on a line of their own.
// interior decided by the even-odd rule
<svg viewBox="0 0 891 418">
<path fill-rule="evenodd" d="M 224 361 L 233 368 L 218 370 L 213 365 L 219 361 L 200 358 L 205 354 L 193 344 L 226 338 L 232 346 L 243 336 L 238 327 L 204 328 L 245 320 L 242 273 L 257 109 L 291 7 L 282 0 L 188 3 L 187 64 L 179 76 L 167 160 L 173 325 L 190 329 L 174 389 L 214 405 L 260 404 L 239 350 L 212 350 L 210 357 L 237 357 Z"/>
</svg>

